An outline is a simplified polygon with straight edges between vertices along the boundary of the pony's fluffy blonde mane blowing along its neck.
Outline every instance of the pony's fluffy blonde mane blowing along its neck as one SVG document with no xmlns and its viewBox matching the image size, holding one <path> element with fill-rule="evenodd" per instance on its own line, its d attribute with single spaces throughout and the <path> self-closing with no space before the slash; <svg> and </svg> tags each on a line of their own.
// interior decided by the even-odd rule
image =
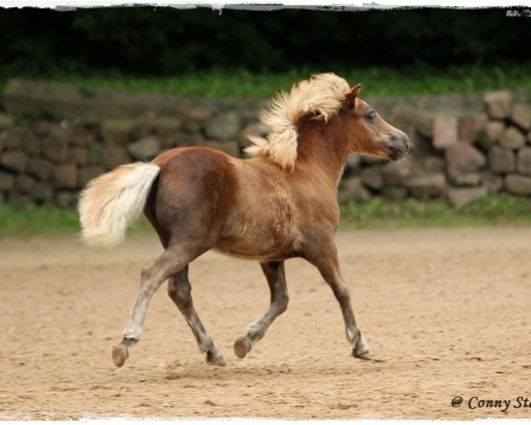
<svg viewBox="0 0 531 425">
<path fill-rule="evenodd" d="M 319 73 L 300 81 L 288 94 L 273 98 L 260 120 L 271 128 L 269 135 L 250 135 L 252 143 L 245 148 L 250 156 L 269 157 L 283 168 L 293 168 L 296 161 L 297 125 L 310 114 L 314 120 L 325 120 L 337 112 L 349 93 L 349 83 L 335 73 Z"/>
</svg>

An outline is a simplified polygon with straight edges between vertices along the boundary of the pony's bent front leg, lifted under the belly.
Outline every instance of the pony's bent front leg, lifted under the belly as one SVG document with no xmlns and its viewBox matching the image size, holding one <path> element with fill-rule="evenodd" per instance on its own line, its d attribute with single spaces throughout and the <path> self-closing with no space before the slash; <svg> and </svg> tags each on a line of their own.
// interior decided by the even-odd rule
<svg viewBox="0 0 531 425">
<path fill-rule="evenodd" d="M 288 288 L 286 287 L 284 262 L 263 262 L 260 263 L 260 267 L 266 274 L 267 284 L 271 291 L 271 305 L 266 314 L 249 325 L 246 335 L 235 341 L 235 353 L 240 359 L 250 352 L 254 344 L 257 344 L 264 337 L 267 328 L 273 321 L 288 308 L 289 296 Z"/>
</svg>

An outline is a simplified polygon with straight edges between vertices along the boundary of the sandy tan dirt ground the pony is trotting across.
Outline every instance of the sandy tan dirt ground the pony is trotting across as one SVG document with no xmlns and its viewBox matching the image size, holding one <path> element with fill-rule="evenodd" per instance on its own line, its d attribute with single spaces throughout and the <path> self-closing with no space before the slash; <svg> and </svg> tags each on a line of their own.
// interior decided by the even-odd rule
<svg viewBox="0 0 531 425">
<path fill-rule="evenodd" d="M 257 263 L 208 252 L 190 281 L 227 366 L 204 363 L 161 288 L 116 368 L 111 348 L 142 264 L 161 251 L 155 237 L 112 251 L 73 237 L 0 239 L 0 419 L 531 418 L 531 228 L 343 232 L 337 242 L 373 361 L 350 357 L 331 290 L 300 259 L 286 264 L 288 311 L 237 359 L 235 339 L 266 311 L 266 281 Z"/>
</svg>

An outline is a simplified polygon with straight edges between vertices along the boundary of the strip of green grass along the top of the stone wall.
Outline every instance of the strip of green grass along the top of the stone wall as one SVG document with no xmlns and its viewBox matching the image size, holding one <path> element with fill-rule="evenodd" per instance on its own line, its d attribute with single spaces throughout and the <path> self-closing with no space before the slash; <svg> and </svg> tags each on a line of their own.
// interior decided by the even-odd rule
<svg viewBox="0 0 531 425">
<path fill-rule="evenodd" d="M 124 90 L 183 97 L 230 97 L 266 99 L 280 89 L 312 73 L 333 71 L 350 81 L 364 84 L 365 97 L 390 97 L 471 93 L 494 89 L 531 90 L 531 63 L 504 66 L 408 66 L 359 69 L 293 69 L 285 73 L 250 73 L 246 70 L 210 70 L 175 76 L 130 76 L 123 73 L 58 73 L 46 80 L 81 86 L 85 93 L 99 89 Z M 13 75 L 0 74 L 0 91 Z M 19 75 L 21 78 L 35 78 Z"/>
</svg>

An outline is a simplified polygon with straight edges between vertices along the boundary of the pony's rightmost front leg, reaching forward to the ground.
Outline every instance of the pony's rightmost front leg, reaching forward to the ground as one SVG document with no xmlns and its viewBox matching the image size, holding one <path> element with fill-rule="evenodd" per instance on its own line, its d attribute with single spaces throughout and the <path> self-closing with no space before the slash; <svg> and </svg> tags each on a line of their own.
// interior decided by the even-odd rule
<svg viewBox="0 0 531 425">
<path fill-rule="evenodd" d="M 326 247 L 323 245 L 319 247 L 322 250 L 321 253 L 327 252 L 327 255 L 315 256 L 308 260 L 319 269 L 319 273 L 334 292 L 335 299 L 337 299 L 341 307 L 345 333 L 350 344 L 352 344 L 352 355 L 358 359 L 370 360 L 372 357 L 369 346 L 361 335 L 358 323 L 354 317 L 354 312 L 352 311 L 349 288 L 342 280 L 339 272 L 339 260 L 337 258 L 335 243 L 330 242 Z"/>
</svg>

